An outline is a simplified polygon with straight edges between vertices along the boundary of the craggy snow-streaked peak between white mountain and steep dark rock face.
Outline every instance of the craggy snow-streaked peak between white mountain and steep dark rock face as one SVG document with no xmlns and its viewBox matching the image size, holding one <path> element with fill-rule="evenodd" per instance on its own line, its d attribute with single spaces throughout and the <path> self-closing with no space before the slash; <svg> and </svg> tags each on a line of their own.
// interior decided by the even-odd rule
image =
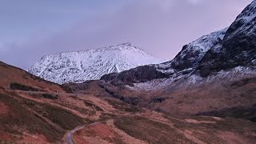
<svg viewBox="0 0 256 144">
<path fill-rule="evenodd" d="M 170 62 L 156 65 L 162 73 L 174 74 L 179 71 L 192 71 L 211 47 L 221 42 L 228 28 L 218 30 L 211 34 L 203 35 L 201 38 L 183 46 L 182 50 Z"/>
</svg>

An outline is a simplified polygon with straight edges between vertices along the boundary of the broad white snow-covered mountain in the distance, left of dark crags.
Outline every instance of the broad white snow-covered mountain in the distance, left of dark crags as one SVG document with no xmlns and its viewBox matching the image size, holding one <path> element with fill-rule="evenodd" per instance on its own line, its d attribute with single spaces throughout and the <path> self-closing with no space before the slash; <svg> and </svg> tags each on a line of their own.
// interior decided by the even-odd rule
<svg viewBox="0 0 256 144">
<path fill-rule="evenodd" d="M 124 43 L 97 50 L 46 55 L 28 71 L 48 81 L 62 84 L 99 79 L 104 74 L 159 62 L 163 61 L 137 46 Z"/>
</svg>

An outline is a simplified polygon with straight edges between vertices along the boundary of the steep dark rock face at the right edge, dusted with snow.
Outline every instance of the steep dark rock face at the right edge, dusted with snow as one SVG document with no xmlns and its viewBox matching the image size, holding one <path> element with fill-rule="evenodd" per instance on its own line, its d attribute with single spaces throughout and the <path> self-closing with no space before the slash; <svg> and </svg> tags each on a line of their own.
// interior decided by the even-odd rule
<svg viewBox="0 0 256 144">
<path fill-rule="evenodd" d="M 198 66 L 202 77 L 236 66 L 256 66 L 256 2 L 252 2 L 232 23 L 217 46 L 212 47 Z"/>
</svg>

